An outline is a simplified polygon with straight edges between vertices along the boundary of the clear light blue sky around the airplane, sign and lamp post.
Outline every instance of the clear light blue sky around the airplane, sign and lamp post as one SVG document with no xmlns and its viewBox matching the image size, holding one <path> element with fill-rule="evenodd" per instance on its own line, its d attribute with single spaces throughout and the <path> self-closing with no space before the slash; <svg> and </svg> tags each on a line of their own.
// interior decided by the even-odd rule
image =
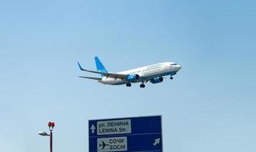
<svg viewBox="0 0 256 152">
<path fill-rule="evenodd" d="M 162 115 L 164 150 L 256 150 L 256 2 L 0 2 L 0 151 L 88 151 L 88 119 Z M 178 62 L 174 81 L 79 79 Z"/>
</svg>

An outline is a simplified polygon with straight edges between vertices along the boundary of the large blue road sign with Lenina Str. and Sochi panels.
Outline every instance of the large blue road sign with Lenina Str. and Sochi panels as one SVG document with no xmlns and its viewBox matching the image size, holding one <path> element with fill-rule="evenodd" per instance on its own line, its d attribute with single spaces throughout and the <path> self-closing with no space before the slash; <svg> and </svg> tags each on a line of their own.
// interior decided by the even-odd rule
<svg viewBox="0 0 256 152">
<path fill-rule="evenodd" d="M 162 152 L 162 116 L 89 120 L 89 152 Z"/>
</svg>

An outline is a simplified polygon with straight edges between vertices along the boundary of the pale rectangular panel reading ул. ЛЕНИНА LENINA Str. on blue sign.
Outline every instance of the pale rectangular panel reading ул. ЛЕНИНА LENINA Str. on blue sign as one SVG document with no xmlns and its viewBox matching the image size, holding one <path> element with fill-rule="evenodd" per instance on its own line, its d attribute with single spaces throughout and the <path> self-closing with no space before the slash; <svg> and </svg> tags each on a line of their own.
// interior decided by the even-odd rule
<svg viewBox="0 0 256 152">
<path fill-rule="evenodd" d="M 130 119 L 97 122 L 98 135 L 130 134 L 131 131 Z"/>
</svg>

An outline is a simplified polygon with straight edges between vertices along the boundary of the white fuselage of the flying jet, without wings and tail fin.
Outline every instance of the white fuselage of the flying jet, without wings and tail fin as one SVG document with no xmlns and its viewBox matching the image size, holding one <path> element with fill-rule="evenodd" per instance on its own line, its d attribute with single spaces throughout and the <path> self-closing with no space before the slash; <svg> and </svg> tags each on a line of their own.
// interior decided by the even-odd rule
<svg viewBox="0 0 256 152">
<path fill-rule="evenodd" d="M 117 74 L 138 74 L 139 79 L 134 82 L 147 82 L 152 78 L 161 78 L 167 75 L 174 75 L 181 69 L 181 65 L 174 62 L 162 62 L 155 65 L 148 65 L 141 68 L 134 68 L 128 71 L 121 71 Z M 127 84 L 127 81 L 123 81 L 120 78 L 107 78 L 103 77 L 98 82 L 102 84 L 110 85 L 122 85 Z"/>
</svg>

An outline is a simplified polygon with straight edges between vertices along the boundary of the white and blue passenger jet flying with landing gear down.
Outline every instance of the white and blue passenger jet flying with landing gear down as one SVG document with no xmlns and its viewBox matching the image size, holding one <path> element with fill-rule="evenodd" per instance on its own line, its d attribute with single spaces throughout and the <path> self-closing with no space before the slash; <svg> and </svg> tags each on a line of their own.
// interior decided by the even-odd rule
<svg viewBox="0 0 256 152">
<path fill-rule="evenodd" d="M 164 78 L 170 75 L 170 79 L 181 70 L 181 65 L 174 62 L 162 62 L 155 65 L 148 65 L 141 68 L 134 68 L 128 71 L 121 71 L 113 73 L 107 71 L 104 65 L 101 63 L 98 56 L 94 57 L 97 71 L 87 70 L 82 68 L 82 65 L 78 62 L 78 67 L 82 71 L 87 71 L 95 74 L 101 74 L 101 78 L 79 76 L 79 78 L 88 78 L 96 80 L 101 84 L 109 85 L 122 85 L 126 84 L 126 87 L 131 87 L 132 83 L 141 83 L 140 87 L 146 87 L 147 82 L 152 84 L 158 84 L 164 80 Z"/>
</svg>

